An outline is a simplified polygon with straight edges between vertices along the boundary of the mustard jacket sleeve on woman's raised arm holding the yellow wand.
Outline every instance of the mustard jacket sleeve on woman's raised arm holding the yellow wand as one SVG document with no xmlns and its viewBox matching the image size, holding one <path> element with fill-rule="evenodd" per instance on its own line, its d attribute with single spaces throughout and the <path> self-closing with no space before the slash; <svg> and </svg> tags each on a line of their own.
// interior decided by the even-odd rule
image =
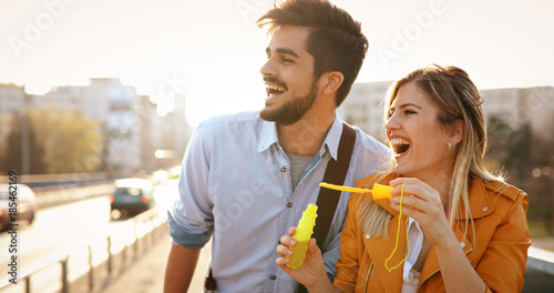
<svg viewBox="0 0 554 293">
<path fill-rule="evenodd" d="M 496 201 L 502 201 L 495 204 L 495 209 L 500 206 L 494 213 L 499 224 L 479 261 L 476 272 L 485 282 L 486 292 L 521 292 L 531 245 L 526 221 L 529 196 L 520 191 L 515 201 L 505 196 L 497 196 Z"/>
</svg>

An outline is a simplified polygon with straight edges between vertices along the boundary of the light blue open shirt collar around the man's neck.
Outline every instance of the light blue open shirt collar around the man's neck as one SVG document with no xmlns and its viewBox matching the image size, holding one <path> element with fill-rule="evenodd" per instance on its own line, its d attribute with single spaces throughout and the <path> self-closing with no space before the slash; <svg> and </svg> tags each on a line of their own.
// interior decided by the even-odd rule
<svg viewBox="0 0 554 293">
<path fill-rule="evenodd" d="M 335 120 L 332 121 L 331 128 L 324 140 L 324 145 L 319 150 L 319 154 L 322 156 L 325 153 L 325 145 L 329 150 L 332 159 L 337 160 L 337 153 L 339 149 L 340 135 L 342 134 L 342 121 L 340 120 L 338 113 L 335 113 Z M 267 150 L 275 143 L 279 143 L 279 138 L 277 135 L 277 124 L 270 121 L 263 121 L 261 131 L 259 134 L 258 152 Z"/>
</svg>

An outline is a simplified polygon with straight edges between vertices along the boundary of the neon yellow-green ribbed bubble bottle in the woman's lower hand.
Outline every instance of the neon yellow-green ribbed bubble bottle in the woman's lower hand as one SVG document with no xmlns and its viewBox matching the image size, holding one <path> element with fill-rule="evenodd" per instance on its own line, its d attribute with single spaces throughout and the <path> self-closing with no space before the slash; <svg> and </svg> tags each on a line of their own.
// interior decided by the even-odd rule
<svg viewBox="0 0 554 293">
<path fill-rule="evenodd" d="M 314 226 L 316 225 L 317 218 L 317 205 L 310 203 L 308 208 L 302 213 L 302 219 L 298 221 L 298 226 L 296 228 L 296 234 L 293 236 L 296 240 L 296 245 L 290 247 L 293 250 L 293 256 L 288 256 L 290 262 L 287 264 L 290 269 L 298 269 L 302 265 L 304 257 L 306 256 L 306 251 L 308 251 L 308 243 L 314 233 Z"/>
</svg>

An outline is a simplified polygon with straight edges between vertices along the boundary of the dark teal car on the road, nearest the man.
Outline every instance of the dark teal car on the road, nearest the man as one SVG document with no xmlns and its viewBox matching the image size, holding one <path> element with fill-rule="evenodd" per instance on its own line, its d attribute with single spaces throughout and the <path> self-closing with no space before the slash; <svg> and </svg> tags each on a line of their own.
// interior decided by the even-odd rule
<svg viewBox="0 0 554 293">
<path fill-rule="evenodd" d="M 155 206 L 152 181 L 138 178 L 117 179 L 109 195 L 113 219 L 129 218 Z"/>
</svg>

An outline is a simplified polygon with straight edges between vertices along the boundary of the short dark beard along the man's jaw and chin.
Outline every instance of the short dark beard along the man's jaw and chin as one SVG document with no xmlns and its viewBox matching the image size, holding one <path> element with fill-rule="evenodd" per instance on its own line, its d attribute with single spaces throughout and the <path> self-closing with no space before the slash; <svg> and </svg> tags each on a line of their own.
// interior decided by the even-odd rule
<svg viewBox="0 0 554 293">
<path fill-rule="evenodd" d="M 314 105 L 317 98 L 317 82 L 311 82 L 311 88 L 308 94 L 302 98 L 293 99 L 287 101 L 283 107 L 268 110 L 266 108 L 259 110 L 259 117 L 266 121 L 274 121 L 280 125 L 290 125 L 308 112 Z"/>
</svg>

